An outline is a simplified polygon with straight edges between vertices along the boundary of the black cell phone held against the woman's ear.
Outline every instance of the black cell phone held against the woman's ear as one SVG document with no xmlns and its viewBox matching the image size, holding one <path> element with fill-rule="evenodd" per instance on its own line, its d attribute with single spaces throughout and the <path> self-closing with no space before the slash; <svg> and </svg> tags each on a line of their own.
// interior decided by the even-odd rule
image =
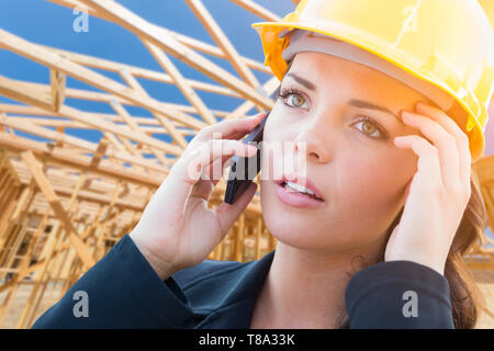
<svg viewBox="0 0 494 351">
<path fill-rule="evenodd" d="M 262 121 L 259 122 L 259 125 L 243 139 L 244 144 L 262 141 L 265 124 L 270 113 L 271 111 L 269 111 Z M 256 157 L 242 157 L 237 155 L 232 157 L 232 167 L 229 168 L 225 193 L 225 202 L 228 204 L 234 204 L 238 197 L 240 197 L 260 171 L 260 149 L 259 145 L 254 145 L 258 147 Z"/>
</svg>

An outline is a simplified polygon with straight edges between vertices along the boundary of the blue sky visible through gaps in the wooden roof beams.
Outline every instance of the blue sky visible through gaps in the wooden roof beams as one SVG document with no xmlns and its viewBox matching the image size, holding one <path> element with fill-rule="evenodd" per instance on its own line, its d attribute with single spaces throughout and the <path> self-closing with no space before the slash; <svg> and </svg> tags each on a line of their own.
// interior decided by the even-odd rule
<svg viewBox="0 0 494 351">
<path fill-rule="evenodd" d="M 119 0 L 119 2 L 149 22 L 216 45 L 184 1 Z M 257 0 L 256 2 L 280 16 L 294 9 L 294 4 L 288 0 Z M 251 23 L 260 22 L 262 19 L 257 18 L 228 0 L 203 0 L 203 3 L 224 30 L 239 54 L 261 63 L 263 61 L 261 42 L 256 31 L 250 26 Z M 92 16 L 89 18 L 89 32 L 77 33 L 72 29 L 72 23 L 76 18 L 77 15 L 72 13 L 72 10 L 49 1 L 0 1 L 0 27 L 30 42 L 162 71 L 134 34 L 119 25 Z M 226 60 L 207 55 L 204 56 L 238 77 Z M 175 57 L 169 57 L 186 78 L 216 83 Z M 123 82 L 116 73 L 99 72 Z M 270 76 L 256 70 L 252 70 L 252 72 L 260 82 L 266 82 L 270 78 Z M 49 71 L 47 68 L 2 49 L 0 49 L 0 75 L 33 82 L 49 82 Z M 139 82 L 153 98 L 190 105 L 189 101 L 175 86 L 144 79 L 141 79 Z M 67 86 L 69 88 L 97 91 L 96 88 L 71 79 L 70 77 L 67 78 Z M 203 91 L 197 92 L 211 109 L 232 111 L 243 102 L 243 100 L 235 98 Z M 11 101 L 0 97 L 0 102 Z M 113 113 L 113 110 L 105 103 L 67 99 L 66 104 L 83 111 Z M 128 111 L 134 115 L 150 116 L 144 109 L 128 107 Z M 255 110 L 252 109 L 251 112 L 255 113 Z M 101 138 L 101 133 L 98 131 L 67 129 L 66 133 L 83 137 L 91 141 L 98 141 Z M 155 135 L 155 137 L 170 140 L 168 136 L 162 134 Z"/>
</svg>

